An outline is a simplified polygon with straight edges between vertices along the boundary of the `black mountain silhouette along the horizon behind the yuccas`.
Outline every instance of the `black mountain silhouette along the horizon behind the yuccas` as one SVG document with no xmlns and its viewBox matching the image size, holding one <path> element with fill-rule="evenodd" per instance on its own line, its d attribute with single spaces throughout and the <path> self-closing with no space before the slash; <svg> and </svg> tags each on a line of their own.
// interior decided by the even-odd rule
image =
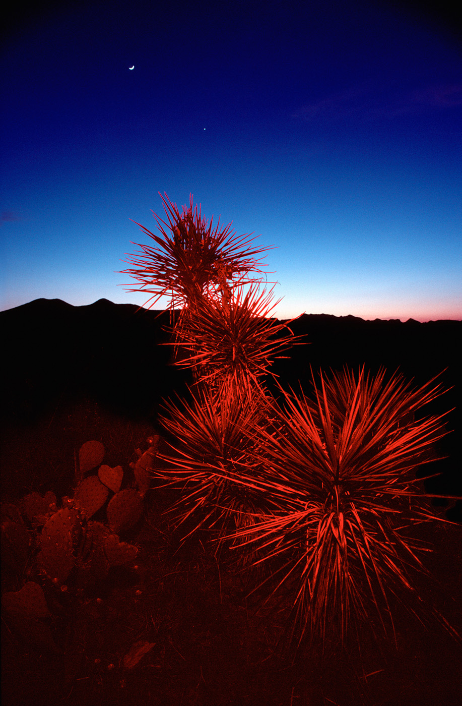
<svg viewBox="0 0 462 706">
<path fill-rule="evenodd" d="M 155 420 L 166 397 L 186 393 L 188 371 L 171 366 L 168 312 L 99 299 L 72 306 L 36 299 L 0 312 L 4 339 L 4 406 L 9 429 L 37 423 L 58 404 L 84 398 L 129 419 Z M 423 467 L 429 492 L 462 495 L 462 321 L 365 321 L 355 316 L 303 314 L 290 323 L 306 345 L 291 345 L 272 366 L 283 386 L 310 389 L 312 372 L 384 367 L 418 387 L 439 375 L 444 395 L 423 414 L 444 414 L 450 433 L 440 442 L 443 461 Z M 290 333 L 290 332 L 287 332 Z M 290 340 L 289 340 L 290 342 Z M 277 394 L 274 383 L 270 387 Z M 450 512 L 462 515 L 460 501 Z"/>
</svg>

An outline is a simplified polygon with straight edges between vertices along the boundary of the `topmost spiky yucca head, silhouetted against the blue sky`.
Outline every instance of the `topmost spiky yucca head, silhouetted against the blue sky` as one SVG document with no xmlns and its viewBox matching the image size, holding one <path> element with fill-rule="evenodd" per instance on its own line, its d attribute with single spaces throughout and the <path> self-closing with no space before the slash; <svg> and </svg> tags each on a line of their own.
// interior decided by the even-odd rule
<svg viewBox="0 0 462 706">
<path fill-rule="evenodd" d="M 252 273 L 261 273 L 261 253 L 271 247 L 254 247 L 256 237 L 237 236 L 231 231 L 231 223 L 220 229 L 219 222 L 212 228 L 212 220 L 202 218 L 200 207 L 193 207 L 190 196 L 189 208 L 182 211 L 159 193 L 164 202 L 166 221 L 154 215 L 159 235 L 140 225 L 154 246 L 135 243 L 141 251 L 129 256 L 127 262 L 134 268 L 123 273 L 134 277 L 138 287 L 128 292 L 152 294 L 148 301 L 154 306 L 160 297 L 170 299 L 169 308 L 192 306 L 197 298 L 207 297 L 215 290 L 226 286 L 254 282 Z"/>
</svg>

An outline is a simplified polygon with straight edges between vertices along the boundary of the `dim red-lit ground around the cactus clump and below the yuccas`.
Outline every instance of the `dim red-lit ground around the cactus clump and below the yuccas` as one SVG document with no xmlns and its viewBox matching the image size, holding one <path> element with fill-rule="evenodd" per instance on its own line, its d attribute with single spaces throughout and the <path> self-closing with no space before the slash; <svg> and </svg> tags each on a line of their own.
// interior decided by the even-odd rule
<svg viewBox="0 0 462 706">
<path fill-rule="evenodd" d="M 153 429 L 81 400 L 6 431 L 2 499 L 8 501 L 30 490 L 68 493 L 75 453 L 91 439 L 104 443 L 105 463 L 128 468 Z M 175 499 L 167 489 L 147 493 L 142 520 L 126 538 L 139 547 L 136 568 L 111 569 L 83 596 L 59 594 L 37 634 L 21 633 L 4 616 L 4 706 L 460 704 L 461 645 L 439 623 L 425 628 L 399 606 L 396 644 L 372 639 L 363 626 L 362 644 L 352 638 L 343 652 L 332 639 L 324 656 L 317 647 L 293 650 L 284 639 L 291 593 L 267 604 L 269 588 L 250 594 L 255 578 L 233 568 L 231 553 L 217 561 L 205 534 L 181 546 L 181 534 L 163 515 Z M 462 633 L 462 528 L 426 532 L 434 546 L 427 566 L 437 582 L 422 580 L 420 590 Z M 18 590 L 15 582 L 2 571 L 3 590 Z"/>
</svg>

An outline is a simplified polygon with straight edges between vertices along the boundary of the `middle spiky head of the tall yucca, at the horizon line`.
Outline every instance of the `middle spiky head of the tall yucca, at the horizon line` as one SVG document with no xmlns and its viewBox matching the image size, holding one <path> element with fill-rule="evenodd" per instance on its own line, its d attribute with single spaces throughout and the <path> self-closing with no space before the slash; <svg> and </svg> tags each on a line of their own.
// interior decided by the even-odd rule
<svg viewBox="0 0 462 706">
<path fill-rule="evenodd" d="M 174 345 L 190 352 L 178 364 L 193 367 L 197 378 L 219 390 L 224 398 L 232 397 L 231 388 L 248 390 L 252 395 L 269 372 L 272 357 L 300 338 L 293 337 L 287 323 L 269 318 L 279 304 L 271 303 L 273 289 L 267 292 L 260 291 L 258 285 L 240 285 L 202 299 L 178 333 Z M 291 337 L 276 337 L 283 331 Z"/>
</svg>

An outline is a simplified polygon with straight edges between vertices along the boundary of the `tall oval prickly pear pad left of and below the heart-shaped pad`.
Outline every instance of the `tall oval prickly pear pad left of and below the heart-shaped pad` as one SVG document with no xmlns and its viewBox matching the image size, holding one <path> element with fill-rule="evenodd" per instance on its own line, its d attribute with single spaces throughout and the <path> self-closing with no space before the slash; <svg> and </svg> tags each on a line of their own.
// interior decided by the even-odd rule
<svg viewBox="0 0 462 706">
<path fill-rule="evenodd" d="M 63 508 L 51 515 L 40 534 L 37 564 L 54 583 L 62 584 L 73 569 L 75 522 L 78 522 L 78 510 L 72 506 Z"/>
</svg>

